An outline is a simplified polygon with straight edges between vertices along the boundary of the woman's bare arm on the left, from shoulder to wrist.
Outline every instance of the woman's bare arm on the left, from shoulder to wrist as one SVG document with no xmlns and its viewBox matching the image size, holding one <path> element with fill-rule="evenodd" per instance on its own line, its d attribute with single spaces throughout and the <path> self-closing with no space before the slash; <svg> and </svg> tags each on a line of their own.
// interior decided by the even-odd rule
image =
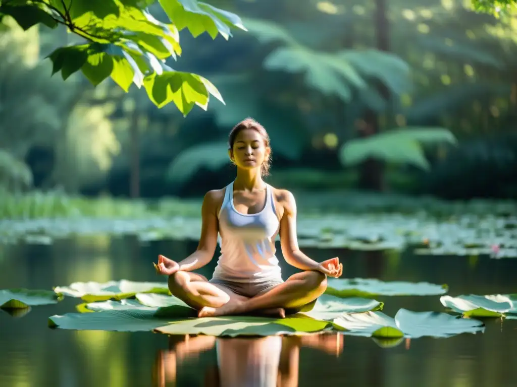
<svg viewBox="0 0 517 387">
<path fill-rule="evenodd" d="M 217 233 L 219 231 L 217 209 L 220 202 L 222 202 L 223 196 L 224 190 L 220 189 L 206 193 L 201 207 L 202 226 L 199 244 L 192 254 L 183 261 L 178 262 L 179 270 L 196 270 L 212 260 L 216 251 Z"/>
</svg>

